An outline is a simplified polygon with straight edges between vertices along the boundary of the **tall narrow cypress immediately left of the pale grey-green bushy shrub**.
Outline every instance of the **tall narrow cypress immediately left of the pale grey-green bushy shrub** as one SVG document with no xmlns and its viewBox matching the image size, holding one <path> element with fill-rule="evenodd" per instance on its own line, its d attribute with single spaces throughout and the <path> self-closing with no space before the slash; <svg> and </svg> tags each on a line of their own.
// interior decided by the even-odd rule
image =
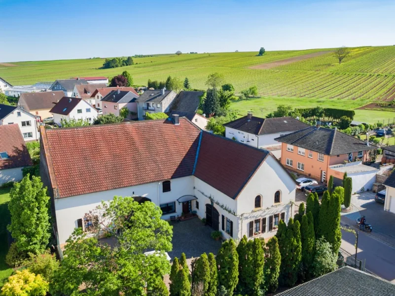
<svg viewBox="0 0 395 296">
<path fill-rule="evenodd" d="M 302 264 L 303 273 L 306 279 L 311 278 L 312 264 L 314 261 L 314 248 L 316 236 L 314 233 L 314 218 L 311 212 L 303 215 L 300 225 L 300 236 L 302 243 Z"/>
</svg>

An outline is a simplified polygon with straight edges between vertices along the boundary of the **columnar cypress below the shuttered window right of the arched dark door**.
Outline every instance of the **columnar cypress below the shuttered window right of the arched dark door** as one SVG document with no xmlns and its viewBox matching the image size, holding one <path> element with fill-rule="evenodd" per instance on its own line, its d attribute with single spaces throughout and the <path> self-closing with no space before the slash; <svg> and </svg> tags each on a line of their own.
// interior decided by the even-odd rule
<svg viewBox="0 0 395 296">
<path fill-rule="evenodd" d="M 233 239 L 222 243 L 216 256 L 216 263 L 218 264 L 219 286 L 225 288 L 227 296 L 233 296 L 239 279 L 239 256 Z"/>
</svg>

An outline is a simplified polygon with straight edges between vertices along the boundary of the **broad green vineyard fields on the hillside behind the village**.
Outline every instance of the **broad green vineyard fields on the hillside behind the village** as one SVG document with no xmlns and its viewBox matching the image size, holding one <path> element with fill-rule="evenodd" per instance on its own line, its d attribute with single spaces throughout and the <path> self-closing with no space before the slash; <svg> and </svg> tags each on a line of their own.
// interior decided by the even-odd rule
<svg viewBox="0 0 395 296">
<path fill-rule="evenodd" d="M 165 80 L 168 75 L 188 77 L 192 88 L 204 89 L 209 74 L 218 72 L 232 83 L 236 93 L 251 85 L 258 87 L 262 99 L 237 102 L 232 109 L 266 114 L 279 103 L 294 107 L 340 107 L 354 109 L 370 101 L 395 100 L 395 46 L 356 47 L 338 64 L 333 49 L 156 55 L 134 58 L 135 65 L 100 69 L 103 59 L 16 62 L 0 64 L 0 77 L 12 84 L 32 84 L 74 76 L 112 77 L 129 71 L 134 84 L 146 85 L 148 79 Z M 324 52 L 326 51 L 326 52 Z M 322 55 L 297 60 L 306 54 Z M 284 59 L 287 64 L 271 64 Z M 277 63 L 276 62 L 276 63 Z M 266 69 L 251 69 L 264 65 Z M 262 67 L 262 66 L 259 66 Z M 357 110 L 357 120 L 374 122 L 393 118 L 395 113 Z"/>
</svg>

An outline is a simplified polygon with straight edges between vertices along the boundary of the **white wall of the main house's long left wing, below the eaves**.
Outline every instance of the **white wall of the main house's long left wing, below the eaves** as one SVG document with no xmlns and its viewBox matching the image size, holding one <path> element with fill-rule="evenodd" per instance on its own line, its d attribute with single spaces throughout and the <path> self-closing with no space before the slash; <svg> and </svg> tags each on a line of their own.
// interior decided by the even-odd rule
<svg viewBox="0 0 395 296">
<path fill-rule="evenodd" d="M 115 195 L 144 196 L 151 199 L 156 205 L 176 202 L 176 213 L 164 215 L 162 218 L 167 220 L 170 219 L 170 216 L 181 216 L 182 204 L 179 204 L 177 199 L 186 194 L 193 195 L 193 178 L 193 176 L 189 176 L 171 180 L 171 191 L 169 192 L 162 192 L 162 182 L 153 182 L 55 199 L 54 205 L 59 243 L 64 244 L 66 242 L 74 228 L 77 227 L 78 219 L 83 218 L 85 213 L 88 213 L 101 204 L 102 200 L 110 201 Z"/>
</svg>

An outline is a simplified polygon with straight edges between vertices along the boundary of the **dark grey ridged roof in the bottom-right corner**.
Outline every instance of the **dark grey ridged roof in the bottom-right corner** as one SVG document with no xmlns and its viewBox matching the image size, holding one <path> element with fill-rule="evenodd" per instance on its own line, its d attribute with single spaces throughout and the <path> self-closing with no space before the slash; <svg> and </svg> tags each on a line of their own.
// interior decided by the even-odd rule
<svg viewBox="0 0 395 296">
<path fill-rule="evenodd" d="M 390 296 L 395 285 L 376 275 L 344 266 L 288 289 L 277 296 Z"/>
</svg>

